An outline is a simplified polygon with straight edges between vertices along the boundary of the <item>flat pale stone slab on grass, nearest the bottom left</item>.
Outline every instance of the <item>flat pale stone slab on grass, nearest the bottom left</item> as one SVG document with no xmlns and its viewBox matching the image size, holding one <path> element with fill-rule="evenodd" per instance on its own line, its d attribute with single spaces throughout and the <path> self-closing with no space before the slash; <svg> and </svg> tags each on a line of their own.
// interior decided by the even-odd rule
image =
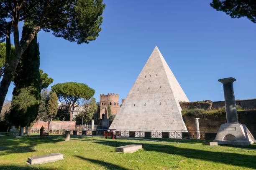
<svg viewBox="0 0 256 170">
<path fill-rule="evenodd" d="M 54 162 L 57 160 L 62 160 L 63 155 L 60 153 L 51 153 L 47 155 L 40 155 L 40 156 L 33 156 L 33 157 L 28 157 L 28 163 L 31 165 L 34 164 L 41 164 L 41 163 L 50 163 Z"/>
</svg>

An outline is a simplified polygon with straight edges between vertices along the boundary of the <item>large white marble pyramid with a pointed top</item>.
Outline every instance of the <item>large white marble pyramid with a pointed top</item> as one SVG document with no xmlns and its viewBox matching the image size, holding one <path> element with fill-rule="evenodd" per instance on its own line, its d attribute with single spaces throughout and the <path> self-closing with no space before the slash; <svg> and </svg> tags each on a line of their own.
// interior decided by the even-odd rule
<svg viewBox="0 0 256 170">
<path fill-rule="evenodd" d="M 109 129 L 187 130 L 180 101 L 189 102 L 155 47 Z"/>
</svg>

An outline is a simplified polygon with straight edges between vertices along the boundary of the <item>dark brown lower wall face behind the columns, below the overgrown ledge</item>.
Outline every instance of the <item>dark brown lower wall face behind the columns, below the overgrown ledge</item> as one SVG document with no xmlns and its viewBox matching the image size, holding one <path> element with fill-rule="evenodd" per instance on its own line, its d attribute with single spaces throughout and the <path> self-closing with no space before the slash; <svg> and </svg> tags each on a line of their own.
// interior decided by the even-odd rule
<svg viewBox="0 0 256 170">
<path fill-rule="evenodd" d="M 250 130 L 254 138 L 256 138 L 256 110 L 238 111 L 238 121 L 245 124 Z M 182 115 L 184 122 L 187 124 L 187 130 L 196 130 L 194 115 Z M 201 131 L 215 131 L 218 132 L 220 125 L 225 124 L 226 115 L 220 114 L 200 114 L 199 127 Z"/>
</svg>

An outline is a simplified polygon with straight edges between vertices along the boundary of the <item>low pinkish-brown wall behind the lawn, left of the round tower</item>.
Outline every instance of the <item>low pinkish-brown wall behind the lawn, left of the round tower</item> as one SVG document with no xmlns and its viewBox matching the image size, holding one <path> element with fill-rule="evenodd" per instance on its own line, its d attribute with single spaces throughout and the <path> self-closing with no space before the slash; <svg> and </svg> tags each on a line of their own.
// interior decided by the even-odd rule
<svg viewBox="0 0 256 170">
<path fill-rule="evenodd" d="M 32 129 L 40 129 L 44 126 L 44 129 L 48 129 L 48 122 L 39 121 L 36 122 Z M 76 121 L 52 121 L 50 124 L 50 129 L 75 129 Z"/>
</svg>

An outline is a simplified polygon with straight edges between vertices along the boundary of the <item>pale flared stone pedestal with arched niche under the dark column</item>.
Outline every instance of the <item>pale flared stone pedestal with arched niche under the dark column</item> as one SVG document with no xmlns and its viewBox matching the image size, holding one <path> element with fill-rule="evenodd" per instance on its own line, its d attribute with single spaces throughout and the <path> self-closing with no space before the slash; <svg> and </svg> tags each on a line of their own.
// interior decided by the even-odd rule
<svg viewBox="0 0 256 170">
<path fill-rule="evenodd" d="M 220 125 L 214 142 L 226 145 L 251 145 L 256 143 L 246 125 L 240 123 L 225 123 Z"/>
</svg>

